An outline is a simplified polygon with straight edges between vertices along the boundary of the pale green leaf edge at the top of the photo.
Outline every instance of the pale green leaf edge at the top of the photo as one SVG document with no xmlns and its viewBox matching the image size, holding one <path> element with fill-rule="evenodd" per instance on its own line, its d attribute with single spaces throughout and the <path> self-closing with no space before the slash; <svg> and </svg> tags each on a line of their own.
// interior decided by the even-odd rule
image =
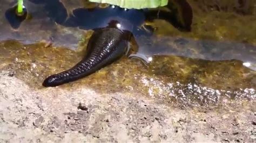
<svg viewBox="0 0 256 143">
<path fill-rule="evenodd" d="M 89 0 L 96 3 L 109 3 L 126 9 L 157 8 L 165 6 L 168 0 Z"/>
</svg>

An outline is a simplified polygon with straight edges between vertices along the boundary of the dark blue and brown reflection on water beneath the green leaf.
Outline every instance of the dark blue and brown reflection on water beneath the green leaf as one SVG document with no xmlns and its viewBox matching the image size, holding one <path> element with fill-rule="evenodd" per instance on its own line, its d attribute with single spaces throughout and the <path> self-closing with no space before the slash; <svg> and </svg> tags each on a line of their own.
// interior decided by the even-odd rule
<svg viewBox="0 0 256 143">
<path fill-rule="evenodd" d="M 81 6 L 82 4 L 76 5 L 76 9 L 73 8 L 70 10 L 68 9 L 69 2 L 58 0 L 30 0 L 24 5 L 28 8 L 30 15 L 35 16 L 33 17 L 33 20 L 38 20 L 37 15 L 38 11 L 40 11 L 46 13 L 46 17 L 57 24 L 66 27 L 79 27 L 84 30 L 106 27 L 111 20 L 117 20 L 119 23 L 123 23 L 124 30 L 130 31 L 134 35 L 145 35 L 147 32 L 140 28 L 145 21 L 164 19 L 179 30 L 184 31 L 190 31 L 192 23 L 192 10 L 186 1 L 185 3 L 170 1 L 169 5 L 165 7 L 166 9 L 169 9 L 169 12 L 162 9 L 127 10 L 119 8 L 118 6 L 107 6 L 106 8 L 100 8 L 99 6 L 94 8 L 81 8 L 84 7 Z M 179 9 L 179 11 L 176 9 Z M 35 10 L 37 10 L 37 12 Z M 71 13 L 69 13 L 69 11 L 71 11 Z M 15 20 L 12 20 L 10 24 L 20 25 L 20 22 L 14 22 Z M 15 28 L 18 27 L 16 26 Z"/>
</svg>

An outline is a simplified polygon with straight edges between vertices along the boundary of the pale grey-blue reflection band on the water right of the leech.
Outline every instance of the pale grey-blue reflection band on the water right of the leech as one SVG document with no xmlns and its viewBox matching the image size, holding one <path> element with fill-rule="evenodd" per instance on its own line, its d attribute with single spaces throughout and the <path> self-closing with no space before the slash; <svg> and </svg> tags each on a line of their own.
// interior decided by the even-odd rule
<svg viewBox="0 0 256 143">
<path fill-rule="evenodd" d="M 171 37 L 139 37 L 138 56 L 177 55 L 210 61 L 240 60 L 244 66 L 256 70 L 256 46 L 236 42 L 193 40 Z"/>
</svg>

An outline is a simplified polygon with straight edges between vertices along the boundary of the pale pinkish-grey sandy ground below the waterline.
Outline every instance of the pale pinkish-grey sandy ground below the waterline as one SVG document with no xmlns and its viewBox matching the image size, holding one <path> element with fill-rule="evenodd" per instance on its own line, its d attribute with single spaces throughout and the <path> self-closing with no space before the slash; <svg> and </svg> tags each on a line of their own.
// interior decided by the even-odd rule
<svg viewBox="0 0 256 143">
<path fill-rule="evenodd" d="M 253 142 L 253 105 L 178 109 L 139 95 L 33 89 L 1 71 L 0 142 Z"/>
</svg>

